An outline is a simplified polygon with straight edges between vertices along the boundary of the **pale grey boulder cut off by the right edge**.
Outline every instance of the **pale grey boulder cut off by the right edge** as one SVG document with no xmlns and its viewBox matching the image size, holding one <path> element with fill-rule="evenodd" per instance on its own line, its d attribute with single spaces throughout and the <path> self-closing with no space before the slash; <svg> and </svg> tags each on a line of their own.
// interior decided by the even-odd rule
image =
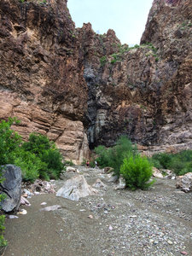
<svg viewBox="0 0 192 256">
<path fill-rule="evenodd" d="M 184 192 L 192 191 L 192 172 L 177 177 L 176 188 Z"/>
</svg>

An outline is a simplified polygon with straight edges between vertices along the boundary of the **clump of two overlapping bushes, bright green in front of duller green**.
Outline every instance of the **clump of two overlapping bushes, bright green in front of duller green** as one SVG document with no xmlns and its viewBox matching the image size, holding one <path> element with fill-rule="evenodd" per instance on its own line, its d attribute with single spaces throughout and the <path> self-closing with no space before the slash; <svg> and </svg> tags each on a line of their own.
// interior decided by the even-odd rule
<svg viewBox="0 0 192 256">
<path fill-rule="evenodd" d="M 146 157 L 137 152 L 137 147 L 126 137 L 120 137 L 112 148 L 99 146 L 95 148 L 99 166 L 110 166 L 113 174 L 121 174 L 130 189 L 147 189 L 152 183 L 152 165 Z"/>
</svg>

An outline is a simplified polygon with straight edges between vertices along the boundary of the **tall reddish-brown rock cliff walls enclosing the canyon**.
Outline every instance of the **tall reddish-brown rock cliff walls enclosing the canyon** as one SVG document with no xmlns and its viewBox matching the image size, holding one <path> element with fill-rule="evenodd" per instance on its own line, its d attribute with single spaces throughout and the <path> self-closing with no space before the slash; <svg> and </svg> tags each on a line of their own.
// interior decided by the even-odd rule
<svg viewBox="0 0 192 256">
<path fill-rule="evenodd" d="M 65 0 L 1 0 L 0 119 L 47 134 L 67 159 L 119 135 L 192 148 L 192 3 L 154 0 L 141 45 L 76 29 Z M 126 29 L 126 27 L 125 27 Z"/>
</svg>

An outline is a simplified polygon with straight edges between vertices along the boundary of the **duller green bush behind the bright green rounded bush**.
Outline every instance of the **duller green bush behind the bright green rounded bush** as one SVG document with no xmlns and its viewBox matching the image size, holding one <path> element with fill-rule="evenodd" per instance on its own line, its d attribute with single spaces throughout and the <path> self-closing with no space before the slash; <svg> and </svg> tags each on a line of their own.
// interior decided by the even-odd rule
<svg viewBox="0 0 192 256">
<path fill-rule="evenodd" d="M 120 137 L 113 148 L 98 146 L 95 148 L 95 151 L 98 155 L 96 158 L 98 166 L 112 167 L 114 174 L 119 177 L 120 166 L 123 163 L 125 155 L 130 153 L 135 154 L 137 152 L 137 148 L 132 146 L 131 141 L 127 137 Z"/>
</svg>

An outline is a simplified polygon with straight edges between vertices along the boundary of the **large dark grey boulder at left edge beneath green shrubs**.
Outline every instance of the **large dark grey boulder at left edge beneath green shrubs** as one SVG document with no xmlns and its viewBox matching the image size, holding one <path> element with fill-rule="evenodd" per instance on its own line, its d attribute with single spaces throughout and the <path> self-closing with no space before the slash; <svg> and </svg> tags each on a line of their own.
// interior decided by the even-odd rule
<svg viewBox="0 0 192 256">
<path fill-rule="evenodd" d="M 1 166 L 1 168 L 3 168 L 4 180 L 0 184 L 0 193 L 4 193 L 6 198 L 0 203 L 0 207 L 5 212 L 11 212 L 20 206 L 21 171 L 20 167 L 14 165 Z"/>
</svg>

